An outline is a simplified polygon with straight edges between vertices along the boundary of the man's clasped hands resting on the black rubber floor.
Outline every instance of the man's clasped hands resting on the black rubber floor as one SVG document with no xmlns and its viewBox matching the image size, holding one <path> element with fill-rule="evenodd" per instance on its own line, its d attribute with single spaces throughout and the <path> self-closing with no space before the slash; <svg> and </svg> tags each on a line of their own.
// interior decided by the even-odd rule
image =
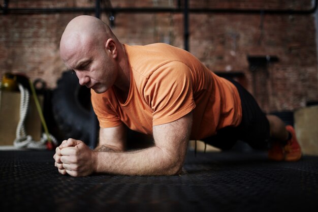
<svg viewBox="0 0 318 212">
<path fill-rule="evenodd" d="M 61 174 L 87 176 L 94 172 L 93 151 L 80 140 L 69 138 L 56 147 L 55 167 Z"/>
</svg>

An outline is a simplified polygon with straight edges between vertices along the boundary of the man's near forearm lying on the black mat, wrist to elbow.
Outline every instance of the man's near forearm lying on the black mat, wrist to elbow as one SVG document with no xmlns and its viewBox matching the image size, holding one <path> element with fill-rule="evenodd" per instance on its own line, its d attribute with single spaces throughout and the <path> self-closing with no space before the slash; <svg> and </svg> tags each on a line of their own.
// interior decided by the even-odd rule
<svg viewBox="0 0 318 212">
<path fill-rule="evenodd" d="M 134 152 L 94 152 L 96 172 L 123 175 L 173 175 L 182 167 L 182 158 L 167 150 L 150 147 Z"/>
</svg>

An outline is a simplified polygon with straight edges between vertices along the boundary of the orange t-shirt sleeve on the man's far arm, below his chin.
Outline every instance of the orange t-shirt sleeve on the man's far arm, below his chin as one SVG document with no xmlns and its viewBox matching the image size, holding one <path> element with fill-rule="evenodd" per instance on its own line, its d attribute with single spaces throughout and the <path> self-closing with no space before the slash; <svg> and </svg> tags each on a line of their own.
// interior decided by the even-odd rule
<svg viewBox="0 0 318 212">
<path fill-rule="evenodd" d="M 116 127 L 121 124 L 121 120 L 115 112 L 110 100 L 115 98 L 110 97 L 110 92 L 97 94 L 91 89 L 91 103 L 93 110 L 97 115 L 101 128 Z"/>
</svg>

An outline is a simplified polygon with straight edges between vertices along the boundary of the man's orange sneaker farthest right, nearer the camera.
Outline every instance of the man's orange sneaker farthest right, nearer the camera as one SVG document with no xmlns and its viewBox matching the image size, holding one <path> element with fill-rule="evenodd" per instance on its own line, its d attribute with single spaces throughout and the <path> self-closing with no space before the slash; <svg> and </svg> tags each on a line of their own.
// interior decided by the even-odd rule
<svg viewBox="0 0 318 212">
<path fill-rule="evenodd" d="M 298 161 L 301 158 L 301 147 L 297 141 L 295 130 L 291 125 L 287 125 L 286 130 L 292 134 L 292 138 L 284 146 L 285 161 Z"/>
</svg>

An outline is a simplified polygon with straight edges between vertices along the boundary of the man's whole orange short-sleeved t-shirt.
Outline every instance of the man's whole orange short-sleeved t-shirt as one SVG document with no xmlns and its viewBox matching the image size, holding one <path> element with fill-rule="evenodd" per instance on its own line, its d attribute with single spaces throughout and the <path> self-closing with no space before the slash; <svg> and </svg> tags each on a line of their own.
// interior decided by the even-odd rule
<svg viewBox="0 0 318 212">
<path fill-rule="evenodd" d="M 113 88 L 103 94 L 91 90 L 101 128 L 124 123 L 151 135 L 153 126 L 173 122 L 190 111 L 190 139 L 202 139 L 220 128 L 240 124 L 242 109 L 236 87 L 194 55 L 162 43 L 124 46 L 131 67 L 126 102 L 120 102 Z"/>
</svg>

